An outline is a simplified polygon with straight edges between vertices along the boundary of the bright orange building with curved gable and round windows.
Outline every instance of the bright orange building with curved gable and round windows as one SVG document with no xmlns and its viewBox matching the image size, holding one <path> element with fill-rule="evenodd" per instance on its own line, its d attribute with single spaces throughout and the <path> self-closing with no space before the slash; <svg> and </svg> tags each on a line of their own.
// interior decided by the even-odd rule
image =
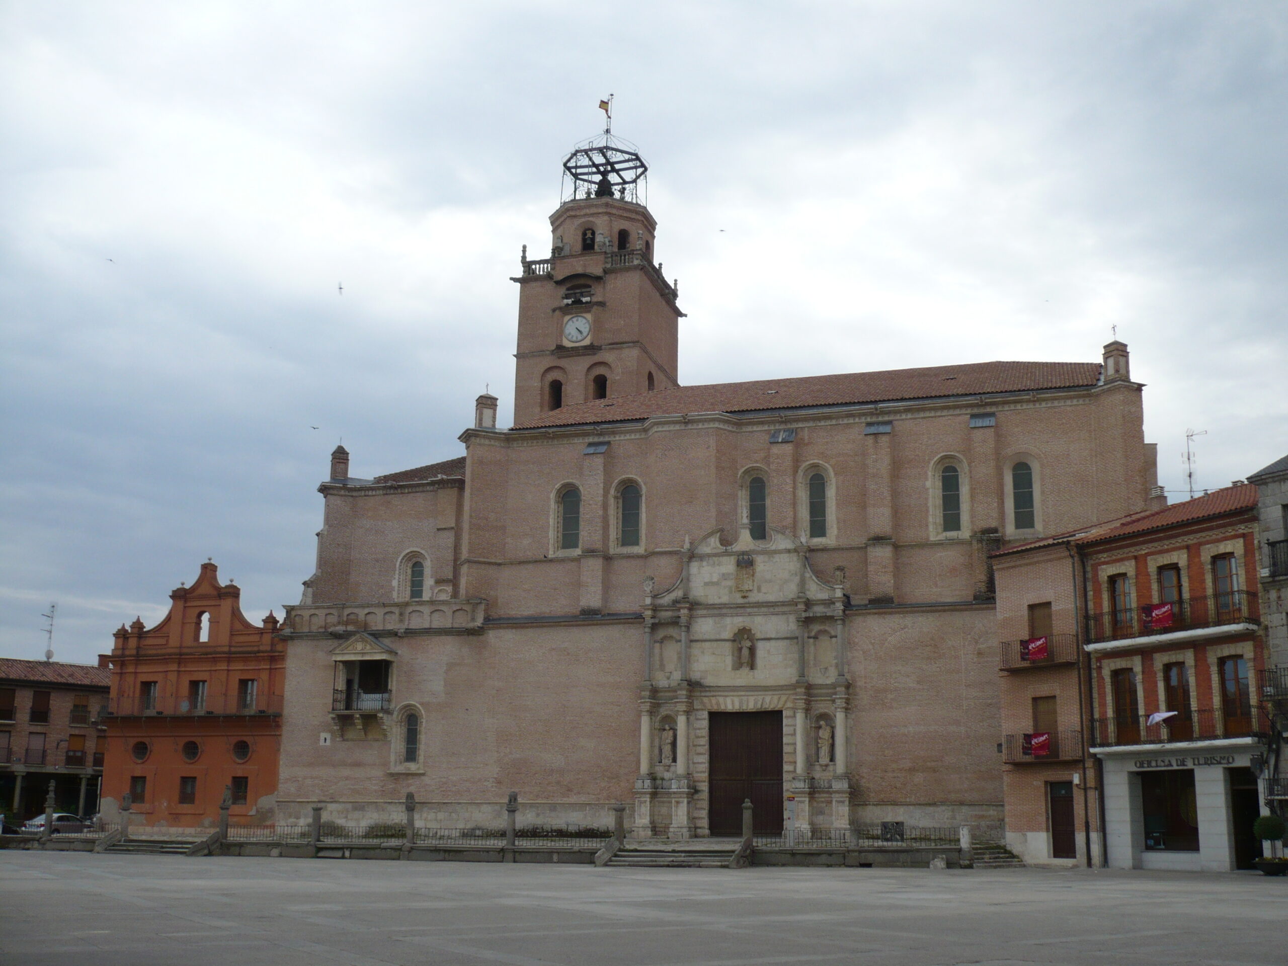
<svg viewBox="0 0 1288 966">
<path fill-rule="evenodd" d="M 107 717 L 103 815 L 129 795 L 134 822 L 200 827 L 231 814 L 272 822 L 282 730 L 286 641 L 272 613 L 256 627 L 215 564 L 170 594 L 156 627 L 116 631 Z"/>
</svg>

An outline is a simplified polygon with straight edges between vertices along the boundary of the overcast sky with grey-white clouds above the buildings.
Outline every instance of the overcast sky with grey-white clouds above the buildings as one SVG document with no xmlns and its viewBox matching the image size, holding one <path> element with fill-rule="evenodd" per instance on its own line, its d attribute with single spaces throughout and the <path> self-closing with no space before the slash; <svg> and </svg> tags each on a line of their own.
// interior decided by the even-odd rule
<svg viewBox="0 0 1288 966">
<path fill-rule="evenodd" d="M 374 477 L 486 385 L 507 424 L 507 279 L 609 93 L 681 383 L 1117 326 L 1168 489 L 1186 428 L 1200 487 L 1288 452 L 1282 0 L 10 0 L 0 85 L 0 656 L 57 600 L 93 661 L 207 556 L 281 614 L 341 437 Z"/>
</svg>

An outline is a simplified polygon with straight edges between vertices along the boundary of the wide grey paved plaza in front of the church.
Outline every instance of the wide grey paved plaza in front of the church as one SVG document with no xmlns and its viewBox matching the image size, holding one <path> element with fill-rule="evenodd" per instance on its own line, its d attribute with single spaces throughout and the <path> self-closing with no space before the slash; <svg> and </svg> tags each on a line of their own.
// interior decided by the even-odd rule
<svg viewBox="0 0 1288 966">
<path fill-rule="evenodd" d="M 1288 877 L 0 853 L 0 963 L 1288 963 Z"/>
</svg>

